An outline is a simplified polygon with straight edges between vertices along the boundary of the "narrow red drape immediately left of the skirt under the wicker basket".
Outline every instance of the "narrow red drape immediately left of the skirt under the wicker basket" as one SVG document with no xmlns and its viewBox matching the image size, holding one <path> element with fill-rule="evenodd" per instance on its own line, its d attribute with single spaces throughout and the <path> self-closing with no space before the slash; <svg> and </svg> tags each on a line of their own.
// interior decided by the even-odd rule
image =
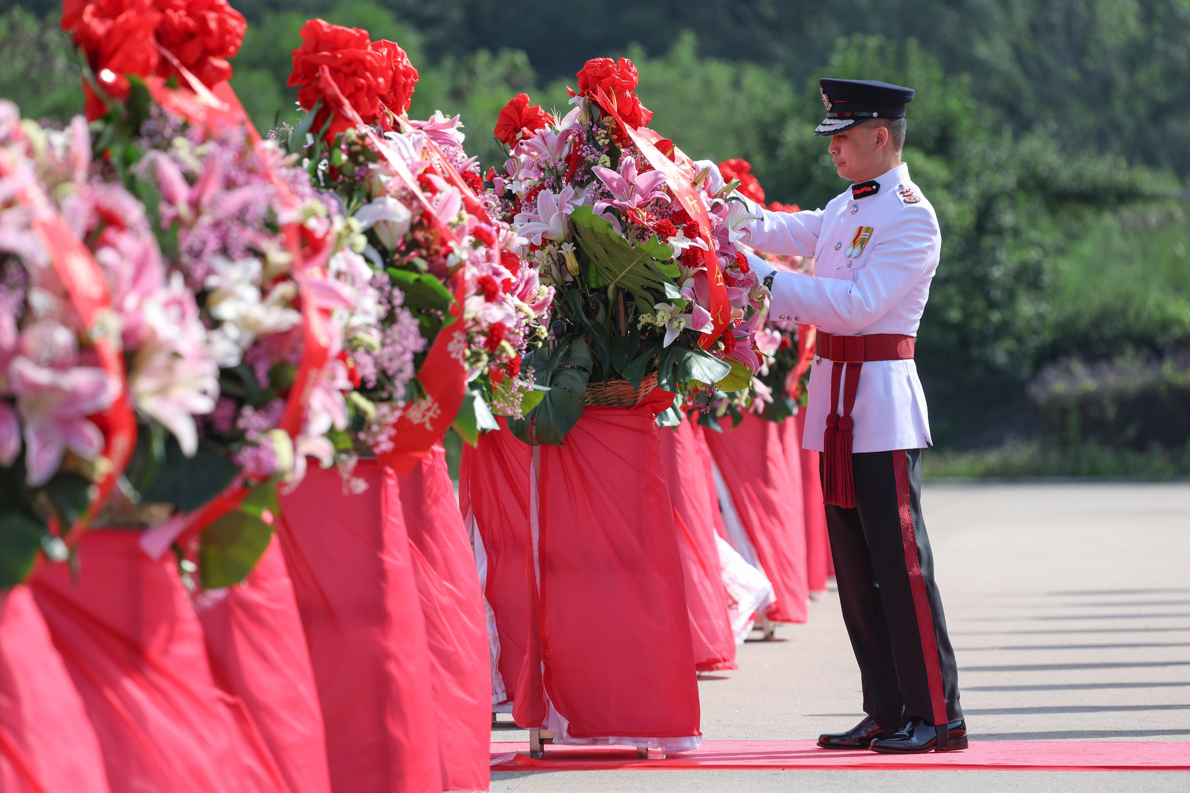
<svg viewBox="0 0 1190 793">
<path fill-rule="evenodd" d="M 516 693 L 525 641 L 528 638 L 528 466 L 532 452 L 508 432 L 482 435 L 475 448 L 463 447 L 458 505 L 475 545 L 488 618 L 493 706 Z"/>
</svg>

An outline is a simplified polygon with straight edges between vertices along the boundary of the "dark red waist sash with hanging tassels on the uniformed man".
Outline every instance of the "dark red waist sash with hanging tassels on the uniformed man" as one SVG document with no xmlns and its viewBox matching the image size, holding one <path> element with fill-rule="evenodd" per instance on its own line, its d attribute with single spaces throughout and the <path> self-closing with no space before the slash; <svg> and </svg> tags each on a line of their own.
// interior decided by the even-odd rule
<svg viewBox="0 0 1190 793">
<path fill-rule="evenodd" d="M 912 360 L 915 342 L 914 336 L 900 333 L 839 336 L 818 332 L 819 357 L 834 361 L 831 367 L 831 415 L 826 417 L 826 435 L 822 438 L 822 499 L 827 504 L 846 508 L 856 505 L 856 482 L 851 467 L 851 439 L 856 422 L 851 418 L 851 409 L 856 407 L 859 371 L 869 360 Z M 846 378 L 843 376 L 844 370 L 847 372 Z"/>
</svg>

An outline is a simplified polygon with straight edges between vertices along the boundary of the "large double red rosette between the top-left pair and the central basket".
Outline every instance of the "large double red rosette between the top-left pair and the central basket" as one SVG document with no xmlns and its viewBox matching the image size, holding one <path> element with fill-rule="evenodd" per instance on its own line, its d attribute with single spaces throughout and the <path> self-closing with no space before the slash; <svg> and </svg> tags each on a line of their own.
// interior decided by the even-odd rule
<svg viewBox="0 0 1190 793">
<path fill-rule="evenodd" d="M 409 63 L 397 44 L 371 42 L 368 31 L 358 27 L 332 25 L 324 19 L 311 19 L 301 29 L 302 44 L 293 52 L 293 71 L 287 84 L 298 87 L 298 103 L 312 109 L 319 100 L 322 107 L 314 117 L 313 128 L 321 130 L 333 117 L 326 138 L 347 130 L 351 122 L 337 113 L 338 101 L 324 94 L 319 84 L 322 67 L 359 117 L 371 122 L 384 109 L 405 113 L 413 99 L 418 70 Z"/>
</svg>

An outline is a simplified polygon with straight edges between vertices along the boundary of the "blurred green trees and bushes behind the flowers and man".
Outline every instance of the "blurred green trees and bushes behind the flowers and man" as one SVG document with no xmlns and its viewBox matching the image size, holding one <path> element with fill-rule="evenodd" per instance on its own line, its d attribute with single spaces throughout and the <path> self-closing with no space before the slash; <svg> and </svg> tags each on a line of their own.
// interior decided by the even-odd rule
<svg viewBox="0 0 1190 793">
<path fill-rule="evenodd" d="M 919 369 L 935 441 L 1028 436 L 1026 385 L 1066 357 L 1190 348 L 1190 0 L 239 0 L 233 84 L 257 125 L 296 118 L 289 52 L 313 15 L 399 42 L 411 114 L 458 113 L 484 168 L 514 94 L 566 109 L 596 56 L 626 55 L 653 127 L 697 158 L 744 157 L 770 200 L 845 187 L 818 77 L 912 86 L 904 159 L 942 225 Z M 0 15 L 0 95 L 81 107 L 56 4 Z"/>
</svg>

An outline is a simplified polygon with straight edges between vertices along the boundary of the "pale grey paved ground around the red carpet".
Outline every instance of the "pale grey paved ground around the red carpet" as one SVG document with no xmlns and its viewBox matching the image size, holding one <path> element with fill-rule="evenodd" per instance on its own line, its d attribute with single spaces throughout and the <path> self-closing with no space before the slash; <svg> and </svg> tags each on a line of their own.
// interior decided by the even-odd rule
<svg viewBox="0 0 1190 793">
<path fill-rule="evenodd" d="M 1190 484 L 927 485 L 976 739 L 1190 742 Z M 832 593 L 702 680 L 708 739 L 846 729 L 859 673 Z M 509 718 L 503 716 L 502 718 Z M 527 741 L 513 724 L 494 741 Z M 503 772 L 493 791 L 1190 791 L 1190 774 Z"/>
</svg>

